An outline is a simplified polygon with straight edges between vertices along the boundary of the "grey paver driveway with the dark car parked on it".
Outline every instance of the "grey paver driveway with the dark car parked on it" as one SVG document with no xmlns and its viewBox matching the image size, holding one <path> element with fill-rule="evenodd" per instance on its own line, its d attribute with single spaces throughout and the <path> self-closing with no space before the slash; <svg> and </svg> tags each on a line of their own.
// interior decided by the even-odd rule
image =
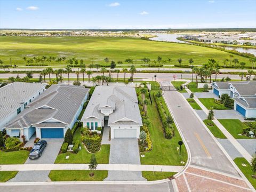
<svg viewBox="0 0 256 192">
<path fill-rule="evenodd" d="M 47 147 L 44 149 L 42 156 L 34 160 L 28 158 L 25 164 L 52 164 L 55 162 L 63 143 L 63 139 L 47 138 L 42 140 L 47 141 Z M 49 173 L 50 171 L 19 171 L 16 177 L 8 182 L 50 181 L 50 178 L 48 177 Z"/>
</svg>

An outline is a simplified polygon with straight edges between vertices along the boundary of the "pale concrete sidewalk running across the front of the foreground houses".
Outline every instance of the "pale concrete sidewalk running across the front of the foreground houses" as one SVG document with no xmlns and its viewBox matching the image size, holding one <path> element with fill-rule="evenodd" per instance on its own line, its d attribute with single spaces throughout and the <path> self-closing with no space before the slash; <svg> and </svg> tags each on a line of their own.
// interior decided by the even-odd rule
<svg viewBox="0 0 256 192">
<path fill-rule="evenodd" d="M 98 164 L 97 170 L 179 172 L 184 166 Z M 89 164 L 16 164 L 0 165 L 1 171 L 89 170 Z"/>
</svg>

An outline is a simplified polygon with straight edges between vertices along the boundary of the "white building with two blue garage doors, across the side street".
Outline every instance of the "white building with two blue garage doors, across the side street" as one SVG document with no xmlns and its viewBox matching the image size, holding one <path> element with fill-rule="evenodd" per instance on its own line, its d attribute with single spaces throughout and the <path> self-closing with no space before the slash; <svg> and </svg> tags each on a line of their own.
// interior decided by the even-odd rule
<svg viewBox="0 0 256 192">
<path fill-rule="evenodd" d="M 234 101 L 234 110 L 245 118 L 256 118 L 256 81 L 214 82 L 212 92 L 228 94 Z"/>
</svg>

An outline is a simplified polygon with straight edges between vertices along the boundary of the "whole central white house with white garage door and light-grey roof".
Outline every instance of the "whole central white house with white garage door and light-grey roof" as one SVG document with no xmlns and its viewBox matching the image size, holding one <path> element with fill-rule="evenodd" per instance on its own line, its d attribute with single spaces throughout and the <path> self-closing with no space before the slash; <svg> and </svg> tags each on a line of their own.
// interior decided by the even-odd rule
<svg viewBox="0 0 256 192">
<path fill-rule="evenodd" d="M 92 131 L 110 126 L 111 138 L 139 138 L 142 121 L 135 88 L 95 87 L 81 121 Z"/>
</svg>

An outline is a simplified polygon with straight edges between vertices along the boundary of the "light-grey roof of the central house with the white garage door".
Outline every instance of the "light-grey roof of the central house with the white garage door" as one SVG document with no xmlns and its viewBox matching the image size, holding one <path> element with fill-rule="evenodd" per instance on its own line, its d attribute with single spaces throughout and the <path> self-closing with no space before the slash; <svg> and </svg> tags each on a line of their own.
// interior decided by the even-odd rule
<svg viewBox="0 0 256 192">
<path fill-rule="evenodd" d="M 109 107 L 106 107 L 108 105 Z M 108 125 L 142 126 L 137 94 L 134 87 L 97 86 L 81 121 L 103 120 L 101 109 L 113 109 Z"/>
</svg>

